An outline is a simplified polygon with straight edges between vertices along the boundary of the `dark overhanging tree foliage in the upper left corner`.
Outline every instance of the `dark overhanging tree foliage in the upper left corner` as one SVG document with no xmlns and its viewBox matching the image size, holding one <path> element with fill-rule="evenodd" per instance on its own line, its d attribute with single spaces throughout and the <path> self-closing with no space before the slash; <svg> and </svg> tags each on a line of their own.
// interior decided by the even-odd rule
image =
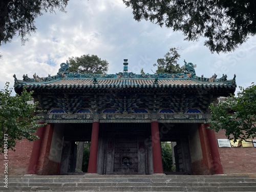
<svg viewBox="0 0 256 192">
<path fill-rule="evenodd" d="M 0 1 L 0 45 L 10 42 L 16 34 L 22 39 L 35 32 L 35 18 L 42 12 L 65 11 L 68 0 L 1 0 Z"/>
</svg>

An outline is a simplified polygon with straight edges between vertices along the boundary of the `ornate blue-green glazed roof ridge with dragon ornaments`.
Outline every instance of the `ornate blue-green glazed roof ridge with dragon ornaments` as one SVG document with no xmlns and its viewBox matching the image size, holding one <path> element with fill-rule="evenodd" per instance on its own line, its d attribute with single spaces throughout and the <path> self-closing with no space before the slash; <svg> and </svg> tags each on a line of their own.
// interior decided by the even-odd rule
<svg viewBox="0 0 256 192">
<path fill-rule="evenodd" d="M 191 62 L 186 62 L 184 60 L 184 73 L 174 73 L 174 74 L 167 74 L 167 73 L 158 73 L 158 74 L 135 74 L 132 72 L 119 72 L 116 74 L 93 74 L 93 73 L 76 73 L 76 72 L 69 72 L 69 63 L 61 63 L 60 69 L 58 73 L 54 76 L 50 74 L 48 77 L 39 77 L 34 73 L 33 78 L 29 78 L 28 75 L 23 75 L 23 80 L 17 80 L 16 75 L 14 74 L 14 87 L 16 84 L 49 84 L 54 83 L 62 79 L 92 79 L 92 84 L 97 84 L 98 80 L 152 80 L 154 79 L 153 84 L 158 84 L 159 80 L 192 80 L 194 82 L 204 82 L 204 83 L 215 83 L 215 82 L 226 82 L 236 85 L 236 74 L 232 80 L 227 80 L 227 75 L 224 75 L 221 78 L 217 79 L 217 75 L 214 74 L 210 78 L 205 78 L 203 75 L 201 77 L 196 76 L 194 64 Z M 137 84 L 137 83 L 136 83 Z"/>
</svg>

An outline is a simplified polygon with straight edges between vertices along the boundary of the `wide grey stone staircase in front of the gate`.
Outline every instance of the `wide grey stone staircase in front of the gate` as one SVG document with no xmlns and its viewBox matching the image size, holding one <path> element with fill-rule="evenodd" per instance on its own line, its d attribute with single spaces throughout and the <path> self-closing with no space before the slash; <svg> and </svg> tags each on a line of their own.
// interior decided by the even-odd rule
<svg viewBox="0 0 256 192">
<path fill-rule="evenodd" d="M 256 191 L 249 176 L 69 175 L 1 177 L 0 191 Z"/>
</svg>

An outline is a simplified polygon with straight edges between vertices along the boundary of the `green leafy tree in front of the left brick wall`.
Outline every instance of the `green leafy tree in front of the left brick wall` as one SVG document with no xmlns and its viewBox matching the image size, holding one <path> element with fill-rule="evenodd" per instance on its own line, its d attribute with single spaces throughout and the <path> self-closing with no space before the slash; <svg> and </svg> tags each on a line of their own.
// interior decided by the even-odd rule
<svg viewBox="0 0 256 192">
<path fill-rule="evenodd" d="M 24 88 L 21 95 L 12 96 L 9 82 L 3 90 L 0 90 L 0 153 L 4 149 L 14 150 L 17 140 L 38 139 L 35 135 L 37 128 L 45 124 L 39 124 L 41 116 L 35 114 L 37 102 L 32 102 L 32 92 Z"/>
</svg>

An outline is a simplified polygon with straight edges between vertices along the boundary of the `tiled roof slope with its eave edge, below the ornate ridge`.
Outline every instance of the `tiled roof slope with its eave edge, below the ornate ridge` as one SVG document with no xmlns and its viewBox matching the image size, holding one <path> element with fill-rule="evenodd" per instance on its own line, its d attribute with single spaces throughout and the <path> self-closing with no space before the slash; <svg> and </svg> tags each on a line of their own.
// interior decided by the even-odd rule
<svg viewBox="0 0 256 192">
<path fill-rule="evenodd" d="M 160 78 L 155 83 L 154 78 L 143 79 L 120 79 L 120 78 L 102 78 L 97 79 L 94 83 L 92 78 L 60 78 L 48 82 L 26 82 L 18 81 L 14 84 L 15 92 L 20 93 L 23 87 L 33 91 L 53 91 L 53 90 L 97 90 L 97 89 L 185 89 L 185 90 L 229 90 L 234 93 L 236 84 L 231 80 L 224 82 L 205 82 L 192 78 Z"/>
</svg>

